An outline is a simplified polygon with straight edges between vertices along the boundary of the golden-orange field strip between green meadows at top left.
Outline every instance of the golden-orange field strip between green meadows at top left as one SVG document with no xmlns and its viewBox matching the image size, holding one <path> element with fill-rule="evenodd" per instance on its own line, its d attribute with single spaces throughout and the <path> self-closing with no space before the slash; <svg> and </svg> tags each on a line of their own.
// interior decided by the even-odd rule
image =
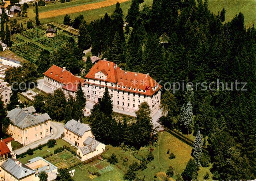
<svg viewBox="0 0 256 181">
<path fill-rule="evenodd" d="M 103 7 L 107 7 L 110 5 L 114 5 L 117 2 L 124 3 L 126 1 L 129 1 L 129 0 L 106 0 L 106 1 L 101 1 L 98 3 L 84 4 L 84 5 L 78 5 L 78 6 L 69 7 L 69 8 L 56 9 L 56 10 L 52 10 L 52 11 L 46 11 L 46 12 L 39 13 L 39 18 L 40 19 L 41 18 L 50 18 L 50 17 L 54 17 L 54 16 L 88 11 L 88 10 L 92 10 L 92 9 L 98 9 L 98 8 L 103 8 Z"/>
</svg>

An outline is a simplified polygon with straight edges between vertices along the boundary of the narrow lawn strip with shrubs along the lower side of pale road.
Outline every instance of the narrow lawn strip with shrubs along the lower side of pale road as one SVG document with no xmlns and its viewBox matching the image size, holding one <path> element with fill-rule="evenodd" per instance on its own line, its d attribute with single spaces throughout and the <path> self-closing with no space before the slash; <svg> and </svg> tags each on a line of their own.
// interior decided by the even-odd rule
<svg viewBox="0 0 256 181">
<path fill-rule="evenodd" d="M 22 163 L 27 163 L 28 160 L 35 158 L 35 157 L 44 157 L 45 155 L 54 154 L 53 151 L 58 147 L 69 146 L 71 149 L 76 151 L 71 145 L 69 145 L 67 142 L 65 142 L 63 139 L 56 140 L 57 145 L 55 145 L 53 148 L 48 148 L 47 145 L 43 147 L 42 150 L 35 150 L 33 155 L 26 154 L 24 158 L 19 158 L 19 161 Z"/>
</svg>

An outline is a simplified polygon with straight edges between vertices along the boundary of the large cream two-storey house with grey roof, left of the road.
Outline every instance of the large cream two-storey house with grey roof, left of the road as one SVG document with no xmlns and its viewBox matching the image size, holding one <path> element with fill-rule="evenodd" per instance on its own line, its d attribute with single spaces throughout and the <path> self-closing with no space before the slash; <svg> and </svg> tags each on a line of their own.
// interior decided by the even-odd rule
<svg viewBox="0 0 256 181">
<path fill-rule="evenodd" d="M 7 117 L 11 121 L 8 134 L 24 146 L 50 134 L 50 116 L 36 113 L 33 106 L 23 109 L 17 106 L 8 111 Z"/>
</svg>

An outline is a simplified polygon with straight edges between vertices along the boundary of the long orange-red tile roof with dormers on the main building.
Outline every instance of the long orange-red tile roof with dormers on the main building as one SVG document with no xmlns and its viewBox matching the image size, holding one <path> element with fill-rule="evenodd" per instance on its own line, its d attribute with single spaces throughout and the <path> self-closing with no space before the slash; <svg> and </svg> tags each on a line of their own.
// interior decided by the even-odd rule
<svg viewBox="0 0 256 181">
<path fill-rule="evenodd" d="M 98 72 L 102 72 L 106 75 L 107 79 L 105 81 L 120 85 L 120 88 L 116 85 L 114 87 L 115 89 L 151 96 L 161 88 L 161 85 L 158 85 L 158 83 L 148 74 L 121 70 L 114 62 L 103 60 L 99 60 L 85 77 L 87 79 L 102 81 L 102 79 L 95 78 L 95 73 Z M 86 83 L 93 84 L 88 81 L 86 81 Z M 123 86 L 125 86 L 125 88 L 123 88 Z M 128 89 L 128 87 L 130 89 Z M 133 90 L 133 88 L 136 88 L 136 90 Z M 139 89 L 141 89 L 141 91 L 139 91 Z M 146 92 L 143 92 L 142 90 L 146 90 Z"/>
</svg>

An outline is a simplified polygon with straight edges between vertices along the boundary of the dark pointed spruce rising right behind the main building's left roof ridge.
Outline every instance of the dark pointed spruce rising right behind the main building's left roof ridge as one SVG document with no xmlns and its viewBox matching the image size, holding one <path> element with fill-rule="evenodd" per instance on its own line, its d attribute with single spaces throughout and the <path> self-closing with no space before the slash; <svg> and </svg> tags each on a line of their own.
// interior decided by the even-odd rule
<svg viewBox="0 0 256 181">
<path fill-rule="evenodd" d="M 114 35 L 114 40 L 110 48 L 110 61 L 120 64 L 124 61 L 124 48 L 123 41 L 121 40 L 118 31 Z"/>
</svg>

